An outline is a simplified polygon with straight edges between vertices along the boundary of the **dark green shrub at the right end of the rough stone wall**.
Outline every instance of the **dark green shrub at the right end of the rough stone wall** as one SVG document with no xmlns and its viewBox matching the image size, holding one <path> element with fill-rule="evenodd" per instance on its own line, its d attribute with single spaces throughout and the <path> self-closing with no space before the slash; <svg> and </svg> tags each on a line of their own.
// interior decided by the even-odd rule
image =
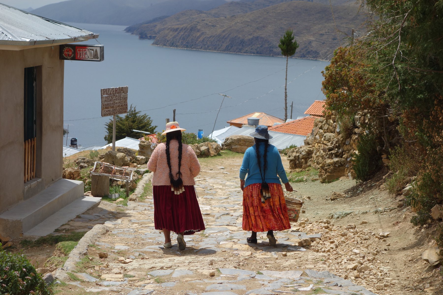
<svg viewBox="0 0 443 295">
<path fill-rule="evenodd" d="M 374 135 L 363 134 L 357 144 L 358 154 L 354 156 L 353 168 L 357 181 L 368 180 L 381 167 Z"/>
</svg>

